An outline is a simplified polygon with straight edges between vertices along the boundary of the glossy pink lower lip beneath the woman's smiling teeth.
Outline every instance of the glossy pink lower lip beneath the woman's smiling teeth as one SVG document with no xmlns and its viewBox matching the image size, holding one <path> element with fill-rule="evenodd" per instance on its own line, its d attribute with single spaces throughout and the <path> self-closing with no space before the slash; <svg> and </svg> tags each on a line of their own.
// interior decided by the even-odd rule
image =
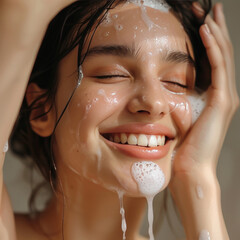
<svg viewBox="0 0 240 240">
<path fill-rule="evenodd" d="M 157 160 L 165 157 L 168 154 L 171 144 L 171 140 L 169 140 L 164 146 L 158 147 L 140 147 L 135 145 L 114 143 L 109 140 L 106 140 L 106 142 L 108 145 L 118 149 L 127 156 L 145 160 Z"/>
</svg>

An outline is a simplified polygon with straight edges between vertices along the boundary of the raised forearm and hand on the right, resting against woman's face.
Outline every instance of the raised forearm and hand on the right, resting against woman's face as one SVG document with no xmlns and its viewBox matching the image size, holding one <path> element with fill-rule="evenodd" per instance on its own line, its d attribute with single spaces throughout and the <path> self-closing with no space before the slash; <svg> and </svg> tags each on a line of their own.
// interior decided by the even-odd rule
<svg viewBox="0 0 240 240">
<path fill-rule="evenodd" d="M 199 14 L 196 10 L 194 12 Z M 222 215 L 216 166 L 239 98 L 235 87 L 233 49 L 220 4 L 214 7 L 213 13 L 213 19 L 206 18 L 208 27 L 203 25 L 200 28 L 212 69 L 208 103 L 178 149 L 170 183 L 188 240 L 229 239 Z"/>
</svg>

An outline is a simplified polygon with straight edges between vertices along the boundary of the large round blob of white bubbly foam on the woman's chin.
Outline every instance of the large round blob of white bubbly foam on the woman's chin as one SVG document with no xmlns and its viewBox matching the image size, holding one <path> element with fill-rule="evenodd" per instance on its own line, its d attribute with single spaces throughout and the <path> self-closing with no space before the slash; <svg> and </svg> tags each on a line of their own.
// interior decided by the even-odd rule
<svg viewBox="0 0 240 240">
<path fill-rule="evenodd" d="M 154 196 L 165 183 L 165 175 L 154 162 L 136 162 L 132 166 L 132 175 L 138 183 L 139 191 L 145 196 Z"/>
</svg>

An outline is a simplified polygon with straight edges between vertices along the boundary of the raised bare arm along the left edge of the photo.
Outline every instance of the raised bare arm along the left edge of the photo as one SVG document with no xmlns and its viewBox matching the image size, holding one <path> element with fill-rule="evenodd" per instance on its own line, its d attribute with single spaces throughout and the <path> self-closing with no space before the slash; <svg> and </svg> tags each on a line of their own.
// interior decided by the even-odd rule
<svg viewBox="0 0 240 240">
<path fill-rule="evenodd" d="M 3 184 L 3 148 L 50 20 L 73 0 L 0 0 L 0 239 L 15 240 L 13 211 Z"/>
</svg>

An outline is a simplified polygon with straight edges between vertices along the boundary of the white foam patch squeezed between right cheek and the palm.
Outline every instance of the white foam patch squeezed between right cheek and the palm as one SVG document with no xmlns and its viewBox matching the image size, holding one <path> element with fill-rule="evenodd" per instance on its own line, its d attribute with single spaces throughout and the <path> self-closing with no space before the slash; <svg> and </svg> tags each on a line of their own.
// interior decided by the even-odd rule
<svg viewBox="0 0 240 240">
<path fill-rule="evenodd" d="M 193 92 L 187 96 L 192 107 L 192 124 L 197 121 L 207 103 L 207 93 L 198 94 Z"/>
</svg>

